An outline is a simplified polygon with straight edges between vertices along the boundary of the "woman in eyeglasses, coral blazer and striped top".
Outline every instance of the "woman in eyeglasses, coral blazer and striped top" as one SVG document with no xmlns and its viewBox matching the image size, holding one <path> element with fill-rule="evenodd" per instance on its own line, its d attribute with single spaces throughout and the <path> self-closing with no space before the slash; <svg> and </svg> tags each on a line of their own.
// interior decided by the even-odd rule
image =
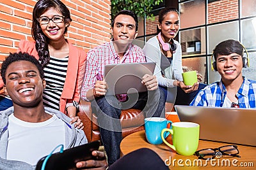
<svg viewBox="0 0 256 170">
<path fill-rule="evenodd" d="M 18 52 L 35 56 L 44 67 L 44 106 L 60 110 L 81 128 L 83 123 L 76 112 L 86 53 L 65 39 L 71 21 L 67 6 L 60 0 L 37 1 L 31 28 L 35 41 L 21 40 Z"/>
</svg>

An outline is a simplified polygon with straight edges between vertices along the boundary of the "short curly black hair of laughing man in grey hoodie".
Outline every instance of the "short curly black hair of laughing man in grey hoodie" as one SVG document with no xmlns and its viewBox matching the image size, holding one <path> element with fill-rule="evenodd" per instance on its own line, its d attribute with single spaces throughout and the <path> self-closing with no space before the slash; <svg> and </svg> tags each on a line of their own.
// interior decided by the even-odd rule
<svg viewBox="0 0 256 170">
<path fill-rule="evenodd" d="M 8 68 L 8 66 L 10 64 L 12 64 L 12 62 L 15 61 L 20 61 L 20 60 L 27 60 L 33 64 L 35 64 L 35 66 L 38 68 L 38 71 L 40 73 L 40 77 L 43 79 L 44 78 L 44 70 L 42 65 L 40 64 L 40 62 L 38 60 L 35 59 L 35 57 L 33 57 L 33 55 L 29 55 L 28 53 L 10 53 L 10 55 L 4 60 L 2 67 L 1 67 L 1 76 L 3 78 L 4 81 L 4 85 L 6 83 L 6 78 L 5 78 L 5 74 L 6 74 L 6 69 Z"/>
</svg>

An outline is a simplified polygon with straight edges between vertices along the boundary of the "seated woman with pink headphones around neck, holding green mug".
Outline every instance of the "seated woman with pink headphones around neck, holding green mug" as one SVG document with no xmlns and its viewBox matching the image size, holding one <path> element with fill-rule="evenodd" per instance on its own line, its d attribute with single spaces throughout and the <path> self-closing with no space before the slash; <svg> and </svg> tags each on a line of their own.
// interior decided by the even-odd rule
<svg viewBox="0 0 256 170">
<path fill-rule="evenodd" d="M 175 8 L 164 8 L 159 12 L 157 36 L 148 39 L 143 52 L 148 62 L 156 62 L 154 74 L 160 86 L 164 87 L 166 96 L 168 87 L 178 87 L 176 104 L 188 105 L 196 96 L 202 75 L 197 74 L 198 82 L 193 86 L 184 85 L 182 81 L 182 51 L 178 41 L 173 38 L 179 31 L 179 11 Z M 173 94 L 174 95 L 174 94 Z"/>
</svg>

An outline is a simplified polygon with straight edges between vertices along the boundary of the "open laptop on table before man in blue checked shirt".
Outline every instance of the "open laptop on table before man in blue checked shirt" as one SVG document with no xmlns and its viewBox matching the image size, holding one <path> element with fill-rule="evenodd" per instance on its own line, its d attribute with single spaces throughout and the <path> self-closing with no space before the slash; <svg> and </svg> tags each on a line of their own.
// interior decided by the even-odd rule
<svg viewBox="0 0 256 170">
<path fill-rule="evenodd" d="M 256 146 L 256 110 L 175 106 L 182 122 L 200 124 L 200 139 Z"/>
</svg>

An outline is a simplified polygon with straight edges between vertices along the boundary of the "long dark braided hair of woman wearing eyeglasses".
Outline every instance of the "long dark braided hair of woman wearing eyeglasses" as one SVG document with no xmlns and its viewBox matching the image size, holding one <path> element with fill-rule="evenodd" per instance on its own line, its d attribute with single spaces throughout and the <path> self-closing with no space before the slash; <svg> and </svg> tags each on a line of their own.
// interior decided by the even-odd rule
<svg viewBox="0 0 256 170">
<path fill-rule="evenodd" d="M 39 0 L 35 4 L 33 9 L 33 19 L 32 19 L 32 28 L 31 34 L 33 39 L 36 41 L 36 51 L 38 52 L 39 60 L 41 61 L 42 66 L 44 67 L 50 60 L 50 53 L 48 49 L 49 38 L 43 33 L 38 18 L 49 8 L 55 8 L 60 11 L 60 13 L 65 17 L 64 22 L 70 23 L 72 21 L 70 17 L 70 11 L 67 6 L 63 4 L 60 0 Z M 64 34 L 67 32 L 67 27 L 65 28 Z"/>
</svg>

